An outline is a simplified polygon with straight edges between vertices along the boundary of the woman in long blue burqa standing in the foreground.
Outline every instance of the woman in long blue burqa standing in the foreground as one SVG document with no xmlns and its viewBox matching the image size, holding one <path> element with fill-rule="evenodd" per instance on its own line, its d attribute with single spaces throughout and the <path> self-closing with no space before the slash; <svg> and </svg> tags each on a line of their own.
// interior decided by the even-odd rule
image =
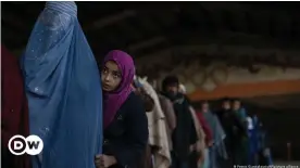
<svg viewBox="0 0 300 168">
<path fill-rule="evenodd" d="M 93 168 L 102 148 L 98 66 L 71 1 L 46 3 L 22 57 L 30 134 L 43 141 L 34 168 Z"/>
</svg>

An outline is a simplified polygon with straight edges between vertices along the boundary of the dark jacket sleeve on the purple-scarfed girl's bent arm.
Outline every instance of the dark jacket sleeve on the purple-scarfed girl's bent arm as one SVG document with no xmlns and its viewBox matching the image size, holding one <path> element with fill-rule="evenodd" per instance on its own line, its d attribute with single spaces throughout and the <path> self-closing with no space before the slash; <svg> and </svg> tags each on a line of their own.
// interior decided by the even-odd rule
<svg viewBox="0 0 300 168">
<path fill-rule="evenodd" d="M 133 165 L 143 155 L 148 143 L 148 120 L 140 99 L 134 99 L 126 116 L 127 142 L 118 146 L 114 153 L 117 165 L 123 167 Z"/>
</svg>

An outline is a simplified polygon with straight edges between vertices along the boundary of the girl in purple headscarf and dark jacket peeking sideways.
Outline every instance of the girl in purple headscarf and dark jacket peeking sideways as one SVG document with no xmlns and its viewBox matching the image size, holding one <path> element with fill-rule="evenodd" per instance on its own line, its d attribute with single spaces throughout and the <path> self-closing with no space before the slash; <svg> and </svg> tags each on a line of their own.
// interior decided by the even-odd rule
<svg viewBox="0 0 300 168">
<path fill-rule="evenodd" d="M 97 168 L 138 168 L 148 143 L 148 120 L 139 95 L 132 88 L 133 59 L 114 50 L 101 69 L 103 89 L 103 154 L 97 155 Z"/>
</svg>

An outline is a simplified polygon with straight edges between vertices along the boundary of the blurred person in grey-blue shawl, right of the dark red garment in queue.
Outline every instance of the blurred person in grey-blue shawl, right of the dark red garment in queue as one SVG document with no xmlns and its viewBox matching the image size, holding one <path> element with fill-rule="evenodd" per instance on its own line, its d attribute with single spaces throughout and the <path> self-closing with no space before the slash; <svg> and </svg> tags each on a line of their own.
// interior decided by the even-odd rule
<svg viewBox="0 0 300 168">
<path fill-rule="evenodd" d="M 223 167 L 223 160 L 226 160 L 228 157 L 224 144 L 226 134 L 220 124 L 217 116 L 210 111 L 208 101 L 203 101 L 201 103 L 201 112 L 203 113 L 203 116 L 213 132 L 213 145 L 209 150 L 210 168 L 221 168 Z"/>
</svg>

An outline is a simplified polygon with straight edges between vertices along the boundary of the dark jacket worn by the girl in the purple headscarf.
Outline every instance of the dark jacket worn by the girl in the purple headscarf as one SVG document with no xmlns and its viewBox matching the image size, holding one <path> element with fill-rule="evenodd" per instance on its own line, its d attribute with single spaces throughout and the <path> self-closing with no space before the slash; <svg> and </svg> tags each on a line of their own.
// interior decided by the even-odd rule
<svg viewBox="0 0 300 168">
<path fill-rule="evenodd" d="M 137 168 L 148 143 L 148 120 L 141 99 L 134 92 L 104 129 L 103 154 L 116 158 L 110 168 Z"/>
</svg>

